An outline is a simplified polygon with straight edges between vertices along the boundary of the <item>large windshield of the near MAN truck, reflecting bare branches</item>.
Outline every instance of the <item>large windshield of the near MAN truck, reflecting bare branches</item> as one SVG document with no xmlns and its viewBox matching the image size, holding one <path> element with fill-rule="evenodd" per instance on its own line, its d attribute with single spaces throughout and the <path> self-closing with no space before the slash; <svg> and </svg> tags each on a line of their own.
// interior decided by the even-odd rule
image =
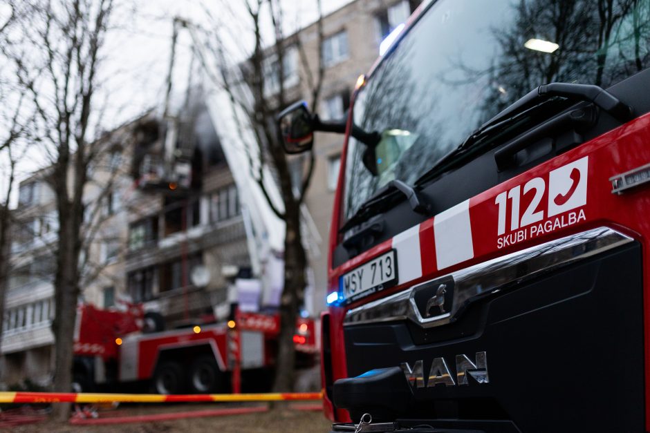
<svg viewBox="0 0 650 433">
<path fill-rule="evenodd" d="M 369 169 L 368 146 L 350 137 L 344 220 L 537 86 L 607 88 L 650 63 L 650 0 L 432 3 L 355 99 L 355 125 L 382 139 Z"/>
</svg>

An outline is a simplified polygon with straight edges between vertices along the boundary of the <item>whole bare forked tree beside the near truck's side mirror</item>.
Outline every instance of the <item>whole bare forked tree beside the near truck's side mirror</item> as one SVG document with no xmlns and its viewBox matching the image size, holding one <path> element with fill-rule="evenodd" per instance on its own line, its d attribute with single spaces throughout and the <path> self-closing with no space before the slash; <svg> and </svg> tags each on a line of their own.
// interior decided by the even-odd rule
<svg viewBox="0 0 650 433">
<path fill-rule="evenodd" d="M 319 18 L 315 23 L 317 36 L 317 53 L 315 64 L 309 61 L 309 54 L 300 38 L 299 33 L 285 35 L 286 21 L 280 0 L 247 0 L 245 1 L 245 18 L 248 23 L 241 26 L 236 13 L 228 2 L 219 6 L 227 16 L 226 20 L 235 21 L 241 27 L 233 29 L 232 24 L 225 21 L 214 23 L 214 28 L 230 28 L 236 35 L 230 35 L 231 40 L 238 41 L 241 32 L 247 32 L 245 37 L 253 41 L 252 53 L 236 53 L 232 57 L 247 57 L 248 60 L 239 64 L 233 71 L 228 65 L 232 61 L 225 61 L 224 43 L 219 34 L 213 35 L 217 41 L 216 57 L 220 59 L 221 76 L 211 77 L 219 86 L 225 87 L 233 105 L 233 112 L 243 113 L 242 116 L 234 114 L 236 122 L 242 129 L 253 133 L 254 151 L 249 149 L 251 175 L 259 184 L 260 189 L 268 202 L 270 209 L 278 218 L 284 221 L 286 237 L 284 241 L 284 289 L 280 298 L 280 334 L 279 350 L 274 389 L 288 391 L 293 389 L 295 383 L 295 347 L 293 335 L 299 308 L 304 304 L 304 291 L 306 287 L 306 271 L 308 267 L 306 251 L 304 249 L 301 233 L 301 206 L 304 203 L 309 189 L 315 166 L 315 154 L 310 151 L 306 158 L 306 165 L 301 167 L 301 180 L 299 184 L 292 181 L 291 163 L 279 139 L 279 131 L 275 118 L 279 111 L 288 102 L 293 102 L 290 95 L 295 91 L 287 88 L 285 79 L 285 58 L 290 50 L 297 50 L 297 58 L 303 72 L 300 77 L 300 87 L 306 89 L 309 95 L 310 106 L 316 107 L 324 77 L 324 65 L 321 59 L 323 41 L 322 8 L 320 0 L 315 0 Z M 209 9 L 207 10 L 209 15 Z M 213 18 L 214 21 L 217 21 Z M 230 25 L 229 25 L 230 24 Z M 272 41 L 265 41 L 263 29 L 270 26 L 273 33 Z M 230 44 L 232 45 L 232 44 Z M 232 55 L 232 52 L 230 53 Z M 205 59 L 200 58 L 205 64 Z M 210 69 L 210 68 L 206 68 Z M 244 91 L 241 91 L 242 87 Z M 252 98 L 248 98 L 248 96 Z M 252 100 L 251 100 L 252 99 Z M 244 134 L 243 134 L 244 135 Z M 281 195 L 281 203 L 272 199 L 272 194 L 267 189 L 268 180 L 265 173 L 272 173 Z"/>
</svg>

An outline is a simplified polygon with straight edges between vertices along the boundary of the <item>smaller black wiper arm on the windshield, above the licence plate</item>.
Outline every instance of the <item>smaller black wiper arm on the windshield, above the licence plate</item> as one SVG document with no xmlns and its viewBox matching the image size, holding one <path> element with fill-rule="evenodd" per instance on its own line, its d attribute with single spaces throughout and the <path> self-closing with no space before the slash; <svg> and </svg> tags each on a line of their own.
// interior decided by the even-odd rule
<svg viewBox="0 0 650 433">
<path fill-rule="evenodd" d="M 378 212 L 388 209 L 389 203 L 393 201 L 396 193 L 402 193 L 405 195 L 407 200 L 409 200 L 409 206 L 411 206 L 412 211 L 424 215 L 431 213 L 431 206 L 429 206 L 418 191 L 401 180 L 391 180 L 386 186 L 380 189 L 378 193 L 361 205 L 358 211 L 356 211 L 356 213 L 352 215 L 345 224 L 343 224 L 340 232 L 343 233 L 348 231 L 355 225 L 358 225 L 361 222 L 368 220 L 373 215 L 376 215 Z"/>
</svg>

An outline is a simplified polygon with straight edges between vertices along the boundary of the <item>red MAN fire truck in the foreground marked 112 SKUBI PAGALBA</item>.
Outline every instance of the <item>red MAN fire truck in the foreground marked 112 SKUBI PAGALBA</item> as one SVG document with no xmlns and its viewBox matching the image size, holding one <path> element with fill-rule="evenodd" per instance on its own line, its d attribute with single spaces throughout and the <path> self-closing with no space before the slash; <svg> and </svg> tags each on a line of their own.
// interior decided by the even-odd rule
<svg viewBox="0 0 650 433">
<path fill-rule="evenodd" d="M 650 1 L 425 1 L 382 51 L 346 126 L 279 117 L 346 131 L 333 430 L 650 431 Z"/>
</svg>

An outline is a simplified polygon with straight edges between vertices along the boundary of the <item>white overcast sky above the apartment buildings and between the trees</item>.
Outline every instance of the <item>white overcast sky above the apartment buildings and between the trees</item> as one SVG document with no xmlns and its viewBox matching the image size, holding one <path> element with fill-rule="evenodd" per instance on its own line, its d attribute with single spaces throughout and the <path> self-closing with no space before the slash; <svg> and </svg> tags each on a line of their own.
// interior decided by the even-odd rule
<svg viewBox="0 0 650 433">
<path fill-rule="evenodd" d="M 130 3 L 133 1 L 133 3 Z M 127 4 L 115 10 L 114 30 L 106 38 L 103 52 L 104 64 L 100 74 L 101 93 L 95 102 L 104 104 L 106 115 L 102 129 L 111 129 L 129 122 L 149 108 L 160 109 L 163 105 L 171 52 L 172 22 L 174 17 L 183 17 L 198 26 L 214 28 L 219 21 L 224 26 L 224 34 L 236 35 L 235 42 L 227 43 L 225 50 L 231 56 L 250 52 L 254 41 L 250 22 L 245 16 L 245 0 L 118 0 Z M 323 0 L 323 13 L 327 15 L 351 0 Z M 288 35 L 297 28 L 307 26 L 318 17 L 316 0 L 283 0 L 285 33 Z M 212 17 L 206 13 L 210 12 Z M 3 15 L 10 10 L 0 0 L 0 25 Z M 268 17 L 267 17 L 268 18 Z M 267 40 L 273 36 L 269 19 L 263 19 L 267 26 L 263 35 Z M 173 93 L 176 100 L 184 94 L 190 82 L 189 64 L 192 58 L 192 41 L 186 31 L 178 36 L 176 64 L 173 75 Z M 198 69 L 192 77 L 193 84 L 198 81 Z M 18 179 L 41 168 L 45 159 L 38 155 L 26 159 L 19 167 Z M 6 161 L 0 157 L 0 170 Z M 41 164 L 41 166 L 39 166 Z M 0 192 L 6 188 L 6 179 L 0 176 Z M 15 189 L 17 192 L 17 189 Z M 17 202 L 17 194 L 12 204 Z"/>
</svg>

